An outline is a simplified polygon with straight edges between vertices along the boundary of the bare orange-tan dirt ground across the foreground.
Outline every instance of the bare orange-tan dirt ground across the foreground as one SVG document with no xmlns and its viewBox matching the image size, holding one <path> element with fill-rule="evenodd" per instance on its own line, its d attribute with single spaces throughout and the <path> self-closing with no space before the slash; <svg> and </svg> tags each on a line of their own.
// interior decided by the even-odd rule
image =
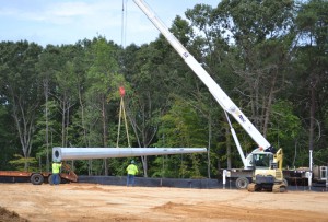
<svg viewBox="0 0 328 222">
<path fill-rule="evenodd" d="M 24 183 L 0 190 L 0 212 L 21 217 L 11 221 L 328 221 L 328 192 Z"/>
</svg>

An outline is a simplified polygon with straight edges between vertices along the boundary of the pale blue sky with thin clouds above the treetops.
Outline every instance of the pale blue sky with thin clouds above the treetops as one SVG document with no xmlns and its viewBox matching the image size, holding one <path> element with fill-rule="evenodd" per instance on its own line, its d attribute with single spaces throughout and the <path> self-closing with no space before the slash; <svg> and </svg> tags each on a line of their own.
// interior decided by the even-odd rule
<svg viewBox="0 0 328 222">
<path fill-rule="evenodd" d="M 169 27 L 197 3 L 220 0 L 145 0 Z M 122 4 L 125 34 L 122 35 Z M 74 44 L 102 35 L 117 44 L 155 40 L 159 31 L 132 0 L 0 0 L 0 42 L 26 39 L 39 45 Z"/>
</svg>

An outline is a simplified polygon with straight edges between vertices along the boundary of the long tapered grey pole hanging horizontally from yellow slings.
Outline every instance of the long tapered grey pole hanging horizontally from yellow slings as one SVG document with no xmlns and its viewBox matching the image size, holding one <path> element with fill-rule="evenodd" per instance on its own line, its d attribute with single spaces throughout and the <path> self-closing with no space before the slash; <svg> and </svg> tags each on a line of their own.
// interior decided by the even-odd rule
<svg viewBox="0 0 328 222">
<path fill-rule="evenodd" d="M 52 148 L 52 161 L 204 153 L 206 148 Z"/>
</svg>

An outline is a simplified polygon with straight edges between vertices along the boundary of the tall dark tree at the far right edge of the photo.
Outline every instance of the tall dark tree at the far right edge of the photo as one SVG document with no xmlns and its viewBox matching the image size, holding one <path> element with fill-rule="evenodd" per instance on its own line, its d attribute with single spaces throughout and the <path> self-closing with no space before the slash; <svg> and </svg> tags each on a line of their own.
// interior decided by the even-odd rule
<svg viewBox="0 0 328 222">
<path fill-rule="evenodd" d="M 327 149 L 324 121 L 327 97 L 328 67 L 328 2 L 311 0 L 301 5 L 297 17 L 297 54 L 294 65 L 297 68 L 297 97 L 301 114 L 308 128 L 308 149 L 321 153 Z M 304 107 L 306 109 L 304 109 Z"/>
</svg>

